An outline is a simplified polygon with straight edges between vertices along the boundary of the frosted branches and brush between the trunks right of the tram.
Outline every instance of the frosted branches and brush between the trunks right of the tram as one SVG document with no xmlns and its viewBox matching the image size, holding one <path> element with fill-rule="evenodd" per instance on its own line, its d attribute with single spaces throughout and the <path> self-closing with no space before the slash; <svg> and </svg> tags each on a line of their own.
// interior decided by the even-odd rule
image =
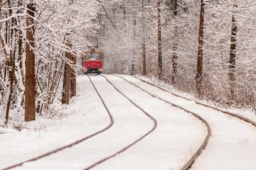
<svg viewBox="0 0 256 170">
<path fill-rule="evenodd" d="M 104 2 L 108 15 L 102 15 L 101 23 L 103 23 L 104 31 L 100 39 L 108 56 L 105 62 L 105 73 L 129 74 L 134 68 L 135 74 L 142 74 L 143 47 L 141 44 L 145 37 L 146 73 L 158 77 L 155 1 L 144 0 L 144 6 L 152 8 L 144 9 L 143 13 L 141 12 L 141 0 L 115 2 L 106 0 Z M 173 81 L 175 88 L 195 95 L 201 1 L 177 0 L 177 7 L 173 0 L 161 2 L 164 81 L 171 82 L 171 79 L 176 77 Z M 254 35 L 256 29 L 253 23 L 256 18 L 254 10 L 256 2 L 253 0 L 203 2 L 205 13 L 202 97 L 220 104 L 255 108 L 255 84 L 252 82 L 255 82 L 256 41 Z M 237 7 L 234 6 L 235 2 Z M 176 9 L 176 14 L 174 9 Z M 116 27 L 110 22 L 109 16 Z M 143 19 L 137 16 L 143 16 Z M 231 97 L 229 83 L 232 16 L 236 17 L 237 21 L 234 97 Z M 175 57 L 175 64 L 172 64 L 173 56 L 177 57 L 177 59 Z"/>
</svg>

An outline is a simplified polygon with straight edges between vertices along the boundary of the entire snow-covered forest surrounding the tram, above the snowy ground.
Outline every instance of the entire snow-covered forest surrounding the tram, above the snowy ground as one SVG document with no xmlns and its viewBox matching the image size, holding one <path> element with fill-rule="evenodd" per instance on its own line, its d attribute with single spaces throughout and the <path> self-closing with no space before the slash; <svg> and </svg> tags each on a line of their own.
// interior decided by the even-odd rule
<svg viewBox="0 0 256 170">
<path fill-rule="evenodd" d="M 0 0 L 0 30 L 2 127 L 69 104 L 89 46 L 104 74 L 256 112 L 255 0 Z"/>
</svg>

